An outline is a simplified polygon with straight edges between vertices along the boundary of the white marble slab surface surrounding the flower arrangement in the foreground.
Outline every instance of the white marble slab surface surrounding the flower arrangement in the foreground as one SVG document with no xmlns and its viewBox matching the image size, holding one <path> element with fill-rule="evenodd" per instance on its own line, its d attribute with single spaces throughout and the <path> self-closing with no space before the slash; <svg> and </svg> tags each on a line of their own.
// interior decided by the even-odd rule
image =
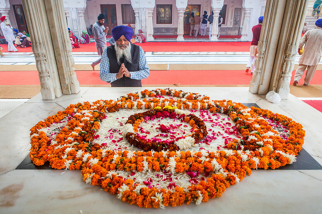
<svg viewBox="0 0 322 214">
<path fill-rule="evenodd" d="M 148 88 L 149 89 L 149 88 Z M 152 88 L 150 88 L 152 89 Z M 253 170 L 223 196 L 196 206 L 194 203 L 162 209 L 129 205 L 82 181 L 80 171 L 17 170 L 28 156 L 29 129 L 38 121 L 62 111 L 71 103 L 117 99 L 142 88 L 88 88 L 42 101 L 38 94 L 29 100 L 9 101 L 0 118 L 0 213 L 321 213 L 322 170 Z M 284 114 L 306 130 L 303 148 L 322 165 L 322 113 L 293 95 L 280 103 L 270 103 L 263 95 L 251 94 L 248 87 L 180 87 L 180 90 L 207 94 L 213 100 L 256 103 L 260 108 Z M 12 104 L 11 104 L 12 103 Z M 320 124 L 320 125 L 319 125 Z"/>
</svg>

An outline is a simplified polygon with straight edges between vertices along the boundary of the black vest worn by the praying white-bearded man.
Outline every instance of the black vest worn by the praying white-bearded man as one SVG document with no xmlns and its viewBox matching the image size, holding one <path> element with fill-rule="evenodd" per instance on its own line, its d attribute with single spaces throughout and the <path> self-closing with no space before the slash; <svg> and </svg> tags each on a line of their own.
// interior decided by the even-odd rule
<svg viewBox="0 0 322 214">
<path fill-rule="evenodd" d="M 114 44 L 115 45 L 115 44 Z M 130 43 L 132 63 L 129 63 L 124 57 L 120 59 L 120 64 L 116 58 L 116 51 L 114 45 L 107 47 L 106 53 L 109 58 L 109 73 L 117 74 L 122 63 L 130 72 L 139 70 L 140 48 L 137 45 Z M 131 79 L 123 75 L 122 78 L 111 82 L 112 87 L 142 87 L 141 80 Z"/>
</svg>

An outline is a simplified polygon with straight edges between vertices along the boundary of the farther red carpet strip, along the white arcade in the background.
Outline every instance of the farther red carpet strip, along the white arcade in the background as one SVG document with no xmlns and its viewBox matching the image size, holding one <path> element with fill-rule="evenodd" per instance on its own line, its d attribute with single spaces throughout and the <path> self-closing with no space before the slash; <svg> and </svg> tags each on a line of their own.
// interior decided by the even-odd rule
<svg viewBox="0 0 322 214">
<path fill-rule="evenodd" d="M 146 52 L 155 51 L 231 51 L 231 52 L 247 52 L 251 46 L 251 42 L 146 42 L 135 43 L 143 48 Z M 1 45 L 2 52 L 8 52 L 8 45 Z M 20 48 L 19 52 L 33 52 L 31 47 Z M 81 48 L 73 48 L 72 52 L 96 52 L 95 42 L 90 44 L 81 44 Z"/>
</svg>

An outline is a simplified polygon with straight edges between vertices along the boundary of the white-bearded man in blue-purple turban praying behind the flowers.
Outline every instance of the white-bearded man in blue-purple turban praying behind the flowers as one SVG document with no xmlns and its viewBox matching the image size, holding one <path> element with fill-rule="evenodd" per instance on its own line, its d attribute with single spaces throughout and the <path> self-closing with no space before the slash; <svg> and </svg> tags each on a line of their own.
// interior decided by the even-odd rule
<svg viewBox="0 0 322 214">
<path fill-rule="evenodd" d="M 132 28 L 116 26 L 112 29 L 115 44 L 104 50 L 99 77 L 112 87 L 142 87 L 141 79 L 150 74 L 144 51 L 130 42 Z"/>
</svg>

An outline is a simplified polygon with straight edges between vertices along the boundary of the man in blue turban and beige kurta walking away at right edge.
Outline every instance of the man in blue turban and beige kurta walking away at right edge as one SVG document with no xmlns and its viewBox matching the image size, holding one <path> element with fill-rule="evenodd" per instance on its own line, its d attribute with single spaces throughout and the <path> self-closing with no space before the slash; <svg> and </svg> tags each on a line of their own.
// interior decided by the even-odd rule
<svg viewBox="0 0 322 214">
<path fill-rule="evenodd" d="M 317 64 L 320 62 L 322 52 L 322 19 L 318 19 L 315 25 L 317 26 L 316 28 L 306 31 L 300 39 L 298 52 L 300 53 L 304 43 L 305 47 L 303 54 L 298 60 L 298 69 L 295 72 L 293 85 L 298 84 L 307 67 L 303 85 L 309 85 L 317 70 Z"/>
</svg>

